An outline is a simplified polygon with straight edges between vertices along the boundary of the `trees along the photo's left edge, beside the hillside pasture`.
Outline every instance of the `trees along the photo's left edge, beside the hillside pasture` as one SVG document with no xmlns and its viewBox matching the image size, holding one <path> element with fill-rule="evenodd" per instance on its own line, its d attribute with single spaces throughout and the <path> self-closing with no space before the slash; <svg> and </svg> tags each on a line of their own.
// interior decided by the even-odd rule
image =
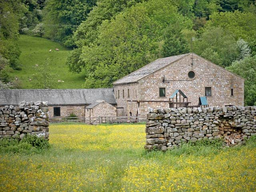
<svg viewBox="0 0 256 192">
<path fill-rule="evenodd" d="M 16 87 L 10 73 L 19 69 L 20 49 L 16 40 L 25 12 L 27 8 L 22 0 L 0 0 L 0 89 Z"/>
</svg>

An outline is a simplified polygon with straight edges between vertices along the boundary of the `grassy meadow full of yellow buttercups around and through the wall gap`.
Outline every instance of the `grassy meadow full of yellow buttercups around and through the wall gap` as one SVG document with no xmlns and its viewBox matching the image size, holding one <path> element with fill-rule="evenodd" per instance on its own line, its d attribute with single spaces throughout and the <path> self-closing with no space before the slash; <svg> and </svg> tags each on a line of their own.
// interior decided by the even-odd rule
<svg viewBox="0 0 256 192">
<path fill-rule="evenodd" d="M 143 124 L 51 124 L 52 147 L 0 152 L 0 191 L 256 190 L 256 138 L 234 148 L 145 152 Z"/>
</svg>

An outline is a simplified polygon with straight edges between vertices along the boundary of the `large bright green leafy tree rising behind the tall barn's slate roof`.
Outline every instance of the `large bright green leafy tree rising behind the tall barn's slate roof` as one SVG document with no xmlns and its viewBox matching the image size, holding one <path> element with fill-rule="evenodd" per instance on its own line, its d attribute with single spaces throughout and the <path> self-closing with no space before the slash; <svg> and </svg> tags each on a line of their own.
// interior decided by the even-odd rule
<svg viewBox="0 0 256 192">
<path fill-rule="evenodd" d="M 108 87 L 118 78 L 162 55 L 187 52 L 184 39 L 176 38 L 186 28 L 191 29 L 192 22 L 179 14 L 169 1 L 136 4 L 102 22 L 97 38 L 82 46 L 79 62 L 75 60 L 74 64 L 68 64 L 75 72 L 82 67 L 86 69 L 86 88 Z M 168 35 L 170 31 L 172 36 Z M 179 47 L 172 46 L 168 50 L 169 40 Z M 79 52 L 78 49 L 74 54 Z"/>
</svg>

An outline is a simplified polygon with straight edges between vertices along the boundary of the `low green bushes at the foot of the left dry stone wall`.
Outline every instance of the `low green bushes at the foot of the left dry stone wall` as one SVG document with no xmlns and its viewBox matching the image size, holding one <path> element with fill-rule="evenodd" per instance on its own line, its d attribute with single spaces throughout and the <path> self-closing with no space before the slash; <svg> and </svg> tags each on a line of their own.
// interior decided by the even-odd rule
<svg viewBox="0 0 256 192">
<path fill-rule="evenodd" d="M 3 138 L 0 140 L 0 153 L 40 153 L 50 148 L 48 140 L 37 136 L 26 135 L 22 140 Z"/>
</svg>

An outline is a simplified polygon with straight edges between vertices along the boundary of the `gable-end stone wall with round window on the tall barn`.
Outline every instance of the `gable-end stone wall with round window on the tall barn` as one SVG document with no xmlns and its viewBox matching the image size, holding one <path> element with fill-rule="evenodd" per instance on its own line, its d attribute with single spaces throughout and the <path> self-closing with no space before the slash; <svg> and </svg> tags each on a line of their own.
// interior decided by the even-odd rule
<svg viewBox="0 0 256 192">
<path fill-rule="evenodd" d="M 207 96 L 210 106 L 244 105 L 244 80 L 199 56 L 184 57 L 139 81 L 140 100 L 169 100 L 175 90 L 180 89 L 188 97 L 190 105 L 198 105 L 198 98 L 205 96 L 205 87 L 211 87 Z M 195 77 L 190 79 L 188 72 Z M 163 76 L 165 82 L 163 82 Z M 159 88 L 166 89 L 166 97 L 159 96 Z M 231 89 L 234 95 L 231 96 Z M 182 100 L 183 101 L 183 100 Z M 165 104 L 167 106 L 167 103 Z M 157 103 L 149 105 L 157 108 Z M 163 107 L 163 106 L 162 106 Z"/>
</svg>

